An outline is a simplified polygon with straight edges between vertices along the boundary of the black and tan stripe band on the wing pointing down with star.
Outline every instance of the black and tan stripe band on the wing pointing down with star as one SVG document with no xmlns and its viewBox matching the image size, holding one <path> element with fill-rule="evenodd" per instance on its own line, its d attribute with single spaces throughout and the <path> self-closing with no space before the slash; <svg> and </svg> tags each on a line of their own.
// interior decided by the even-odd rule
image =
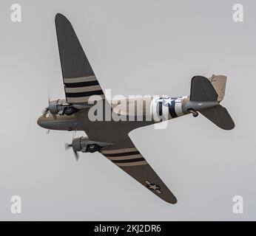
<svg viewBox="0 0 256 236">
<path fill-rule="evenodd" d="M 101 150 L 101 153 L 119 167 L 148 164 L 136 147 L 115 150 Z"/>
</svg>

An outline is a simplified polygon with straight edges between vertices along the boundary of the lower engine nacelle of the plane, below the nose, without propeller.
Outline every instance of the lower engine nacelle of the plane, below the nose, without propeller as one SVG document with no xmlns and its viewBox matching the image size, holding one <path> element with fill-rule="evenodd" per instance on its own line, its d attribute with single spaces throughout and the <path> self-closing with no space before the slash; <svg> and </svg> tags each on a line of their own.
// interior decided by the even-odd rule
<svg viewBox="0 0 256 236">
<path fill-rule="evenodd" d="M 72 147 L 75 152 L 82 152 L 82 153 L 94 153 L 95 151 L 99 151 L 101 147 L 106 147 L 112 145 L 107 142 L 97 142 L 97 141 L 92 141 L 88 139 L 85 136 L 81 136 L 78 138 L 73 139 L 72 141 Z"/>
</svg>

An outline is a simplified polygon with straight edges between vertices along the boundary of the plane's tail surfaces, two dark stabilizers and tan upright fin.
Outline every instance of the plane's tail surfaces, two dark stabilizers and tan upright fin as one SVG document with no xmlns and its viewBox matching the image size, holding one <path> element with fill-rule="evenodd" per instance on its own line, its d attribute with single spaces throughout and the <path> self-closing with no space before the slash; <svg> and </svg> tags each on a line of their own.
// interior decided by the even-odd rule
<svg viewBox="0 0 256 236">
<path fill-rule="evenodd" d="M 224 130 L 232 130 L 235 123 L 226 111 L 220 105 L 223 100 L 226 88 L 226 76 L 213 75 L 209 80 L 203 76 L 195 76 L 191 81 L 190 100 L 196 102 L 218 102 L 211 108 L 205 108 L 199 111 L 204 117 L 215 123 Z"/>
</svg>

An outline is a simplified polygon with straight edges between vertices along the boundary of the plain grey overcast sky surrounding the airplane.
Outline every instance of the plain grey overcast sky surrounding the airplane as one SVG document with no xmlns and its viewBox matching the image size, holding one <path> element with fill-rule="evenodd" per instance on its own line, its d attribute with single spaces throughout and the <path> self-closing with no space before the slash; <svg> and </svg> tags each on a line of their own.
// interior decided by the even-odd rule
<svg viewBox="0 0 256 236">
<path fill-rule="evenodd" d="M 0 220 L 256 220 L 255 1 L 16 1 L 22 22 L 0 3 Z M 14 2 L 13 2 L 14 3 Z M 155 197 L 99 153 L 64 150 L 72 133 L 45 134 L 36 119 L 64 97 L 55 13 L 70 19 L 101 87 L 112 94 L 189 94 L 192 76 L 228 76 L 226 106 L 236 127 L 203 116 L 169 121 L 131 137 L 178 198 Z M 82 133 L 77 133 L 79 135 Z M 20 195 L 22 214 L 10 212 Z M 244 214 L 232 212 L 242 195 Z"/>
</svg>

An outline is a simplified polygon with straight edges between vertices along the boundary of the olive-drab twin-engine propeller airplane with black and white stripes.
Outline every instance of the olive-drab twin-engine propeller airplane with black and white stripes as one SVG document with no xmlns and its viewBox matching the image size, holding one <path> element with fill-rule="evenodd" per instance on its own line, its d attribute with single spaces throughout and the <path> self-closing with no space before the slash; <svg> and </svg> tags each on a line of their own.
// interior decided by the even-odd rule
<svg viewBox="0 0 256 236">
<path fill-rule="evenodd" d="M 235 123 L 226 108 L 220 105 L 225 95 L 226 76 L 212 75 L 209 79 L 192 77 L 189 96 L 142 97 L 115 103 L 114 100 L 106 99 L 73 26 L 61 13 L 55 15 L 55 28 L 66 98 L 49 100 L 47 108 L 38 118 L 38 125 L 47 130 L 84 131 L 86 136 L 76 137 L 71 144 L 66 145 L 66 148 L 73 149 L 76 159 L 78 152 L 99 152 L 159 198 L 169 204 L 176 204 L 177 198 L 146 162 L 129 138 L 129 132 L 186 114 L 198 117 L 198 112 L 219 128 L 232 130 Z M 116 121 L 110 117 L 106 121 L 107 115 L 103 113 L 102 120 L 91 120 L 90 108 L 95 103 L 90 103 L 90 97 L 93 96 L 104 101 L 104 111 L 110 109 L 115 115 L 133 116 L 135 119 Z M 131 114 L 127 109 L 130 103 L 136 103 L 141 109 Z M 155 118 L 144 119 L 148 114 L 152 117 L 155 115 Z"/>
</svg>

